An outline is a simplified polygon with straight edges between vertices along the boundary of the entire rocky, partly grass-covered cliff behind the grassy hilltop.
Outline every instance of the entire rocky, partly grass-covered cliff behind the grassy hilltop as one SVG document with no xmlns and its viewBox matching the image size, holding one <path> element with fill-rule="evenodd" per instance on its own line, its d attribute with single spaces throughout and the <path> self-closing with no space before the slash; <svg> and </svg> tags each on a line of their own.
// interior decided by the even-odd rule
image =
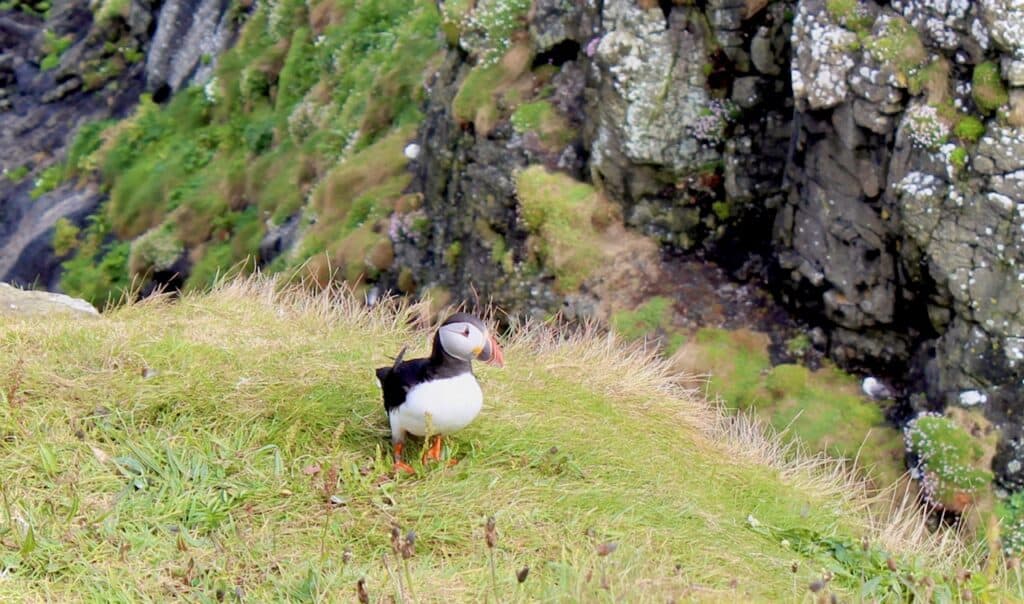
<svg viewBox="0 0 1024 604">
<path fill-rule="evenodd" d="M 63 286 L 92 300 L 129 277 L 203 287 L 255 258 L 371 297 L 607 317 L 666 283 L 673 255 L 699 255 L 767 279 L 816 346 L 893 379 L 895 419 L 953 405 L 1004 425 L 997 478 L 1024 485 L 1014 4 L 128 6 L 75 14 L 135 41 L 116 90 L 152 100 L 82 157 L 69 149 L 59 176 L 99 192 L 65 183 L 32 205 L 38 177 L 0 181 L 4 224 L 34 225 L 0 277 L 53 285 L 55 216 L 82 224 L 100 203 L 56 246 Z M 3 16 L 0 31 L 36 32 L 3 59 L 20 61 L 3 82 L 27 105 L 74 78 L 24 58 L 54 18 Z M 73 50 L 60 66 L 83 64 Z M 90 119 L 128 110 L 99 105 Z M 4 132 L 19 115 L 0 116 Z M 60 157 L 69 138 L 55 140 Z"/>
</svg>

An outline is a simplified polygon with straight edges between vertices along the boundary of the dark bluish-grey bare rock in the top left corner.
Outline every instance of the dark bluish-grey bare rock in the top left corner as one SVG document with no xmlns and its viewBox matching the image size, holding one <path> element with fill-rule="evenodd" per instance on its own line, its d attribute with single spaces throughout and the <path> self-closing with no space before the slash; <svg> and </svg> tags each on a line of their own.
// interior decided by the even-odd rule
<svg viewBox="0 0 1024 604">
<path fill-rule="evenodd" d="M 110 52 L 112 41 L 123 51 Z M 46 20 L 0 12 L 0 278 L 56 287 L 53 224 L 81 223 L 98 196 L 40 183 L 81 125 L 135 102 L 142 67 L 124 54 L 139 44 L 123 23 L 94 24 L 84 1 L 56 3 Z"/>
</svg>

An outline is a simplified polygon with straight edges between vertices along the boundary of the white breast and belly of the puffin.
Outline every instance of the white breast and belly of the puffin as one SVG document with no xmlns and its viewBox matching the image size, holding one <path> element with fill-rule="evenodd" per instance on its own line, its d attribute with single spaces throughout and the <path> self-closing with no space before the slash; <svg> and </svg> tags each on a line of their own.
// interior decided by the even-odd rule
<svg viewBox="0 0 1024 604">
<path fill-rule="evenodd" d="M 483 392 L 471 373 L 424 382 L 410 389 L 406 402 L 391 411 L 391 429 L 424 436 L 429 415 L 433 434 L 450 434 L 468 426 L 482 405 Z"/>
</svg>

